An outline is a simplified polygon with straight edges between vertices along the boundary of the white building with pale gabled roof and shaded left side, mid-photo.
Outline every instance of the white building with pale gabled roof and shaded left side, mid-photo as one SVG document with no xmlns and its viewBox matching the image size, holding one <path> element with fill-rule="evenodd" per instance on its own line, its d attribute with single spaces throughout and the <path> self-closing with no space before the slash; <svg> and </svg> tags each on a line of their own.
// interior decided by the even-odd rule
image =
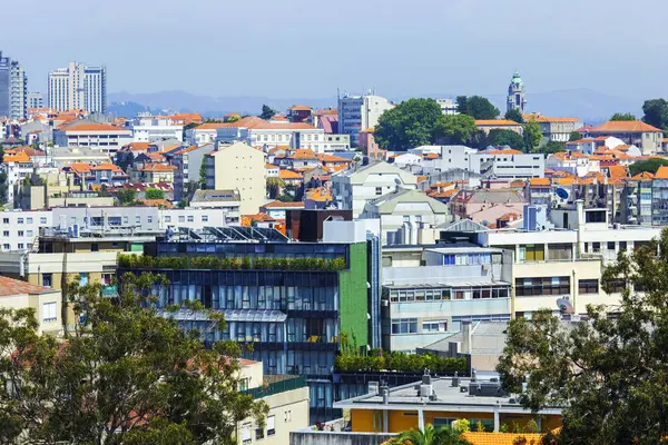
<svg viewBox="0 0 668 445">
<path fill-rule="evenodd" d="M 418 178 L 386 162 L 370 162 L 332 177 L 337 208 L 353 210 L 353 218 L 362 215 L 367 201 L 397 188 L 418 189 Z"/>
</svg>

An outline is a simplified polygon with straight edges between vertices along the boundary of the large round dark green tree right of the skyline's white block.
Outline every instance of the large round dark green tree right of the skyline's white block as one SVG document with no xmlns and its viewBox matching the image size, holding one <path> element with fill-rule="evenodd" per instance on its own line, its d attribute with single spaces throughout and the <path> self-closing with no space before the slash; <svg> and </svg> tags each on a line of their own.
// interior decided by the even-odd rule
<svg viewBox="0 0 668 445">
<path fill-rule="evenodd" d="M 409 99 L 381 115 L 374 138 L 381 147 L 395 151 L 431 145 L 442 117 L 435 100 Z"/>
</svg>

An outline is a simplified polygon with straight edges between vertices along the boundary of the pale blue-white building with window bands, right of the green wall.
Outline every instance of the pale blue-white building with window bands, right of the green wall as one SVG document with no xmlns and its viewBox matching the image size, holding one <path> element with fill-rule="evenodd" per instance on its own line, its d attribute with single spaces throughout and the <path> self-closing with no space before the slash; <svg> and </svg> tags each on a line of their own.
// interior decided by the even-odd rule
<svg viewBox="0 0 668 445">
<path fill-rule="evenodd" d="M 385 246 L 382 344 L 415 352 L 464 320 L 509 320 L 512 256 L 466 241 Z"/>
</svg>

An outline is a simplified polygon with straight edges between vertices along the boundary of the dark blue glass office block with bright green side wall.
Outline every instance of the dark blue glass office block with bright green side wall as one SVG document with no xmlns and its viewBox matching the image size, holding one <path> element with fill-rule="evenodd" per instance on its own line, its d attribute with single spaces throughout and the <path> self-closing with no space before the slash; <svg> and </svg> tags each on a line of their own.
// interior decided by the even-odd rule
<svg viewBox="0 0 668 445">
<path fill-rule="evenodd" d="M 306 376 L 313 422 L 335 414 L 332 373 L 341 336 L 366 348 L 370 323 L 377 323 L 367 300 L 367 248 L 366 234 L 350 243 L 288 243 L 265 228 L 181 230 L 146 245 L 153 267 L 120 261 L 119 276 L 159 271 L 169 280 L 158 290 L 160 307 L 199 300 L 222 312 L 226 327 L 216 330 L 205 328 L 203 314 L 171 316 L 199 327 L 205 342 L 252 346 L 245 358 L 261 360 L 266 374 Z"/>
</svg>

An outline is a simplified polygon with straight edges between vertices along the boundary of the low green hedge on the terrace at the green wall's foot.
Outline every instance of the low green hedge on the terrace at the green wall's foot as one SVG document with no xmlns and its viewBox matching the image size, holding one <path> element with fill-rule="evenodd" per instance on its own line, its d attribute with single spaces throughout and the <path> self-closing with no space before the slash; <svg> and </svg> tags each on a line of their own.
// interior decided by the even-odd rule
<svg viewBox="0 0 668 445">
<path fill-rule="evenodd" d="M 424 368 L 431 372 L 466 372 L 465 358 L 439 357 L 433 354 L 379 353 L 377 349 L 367 356 L 342 354 L 336 356 L 334 366 L 337 370 L 380 372 L 401 370 L 422 373 Z"/>
</svg>

